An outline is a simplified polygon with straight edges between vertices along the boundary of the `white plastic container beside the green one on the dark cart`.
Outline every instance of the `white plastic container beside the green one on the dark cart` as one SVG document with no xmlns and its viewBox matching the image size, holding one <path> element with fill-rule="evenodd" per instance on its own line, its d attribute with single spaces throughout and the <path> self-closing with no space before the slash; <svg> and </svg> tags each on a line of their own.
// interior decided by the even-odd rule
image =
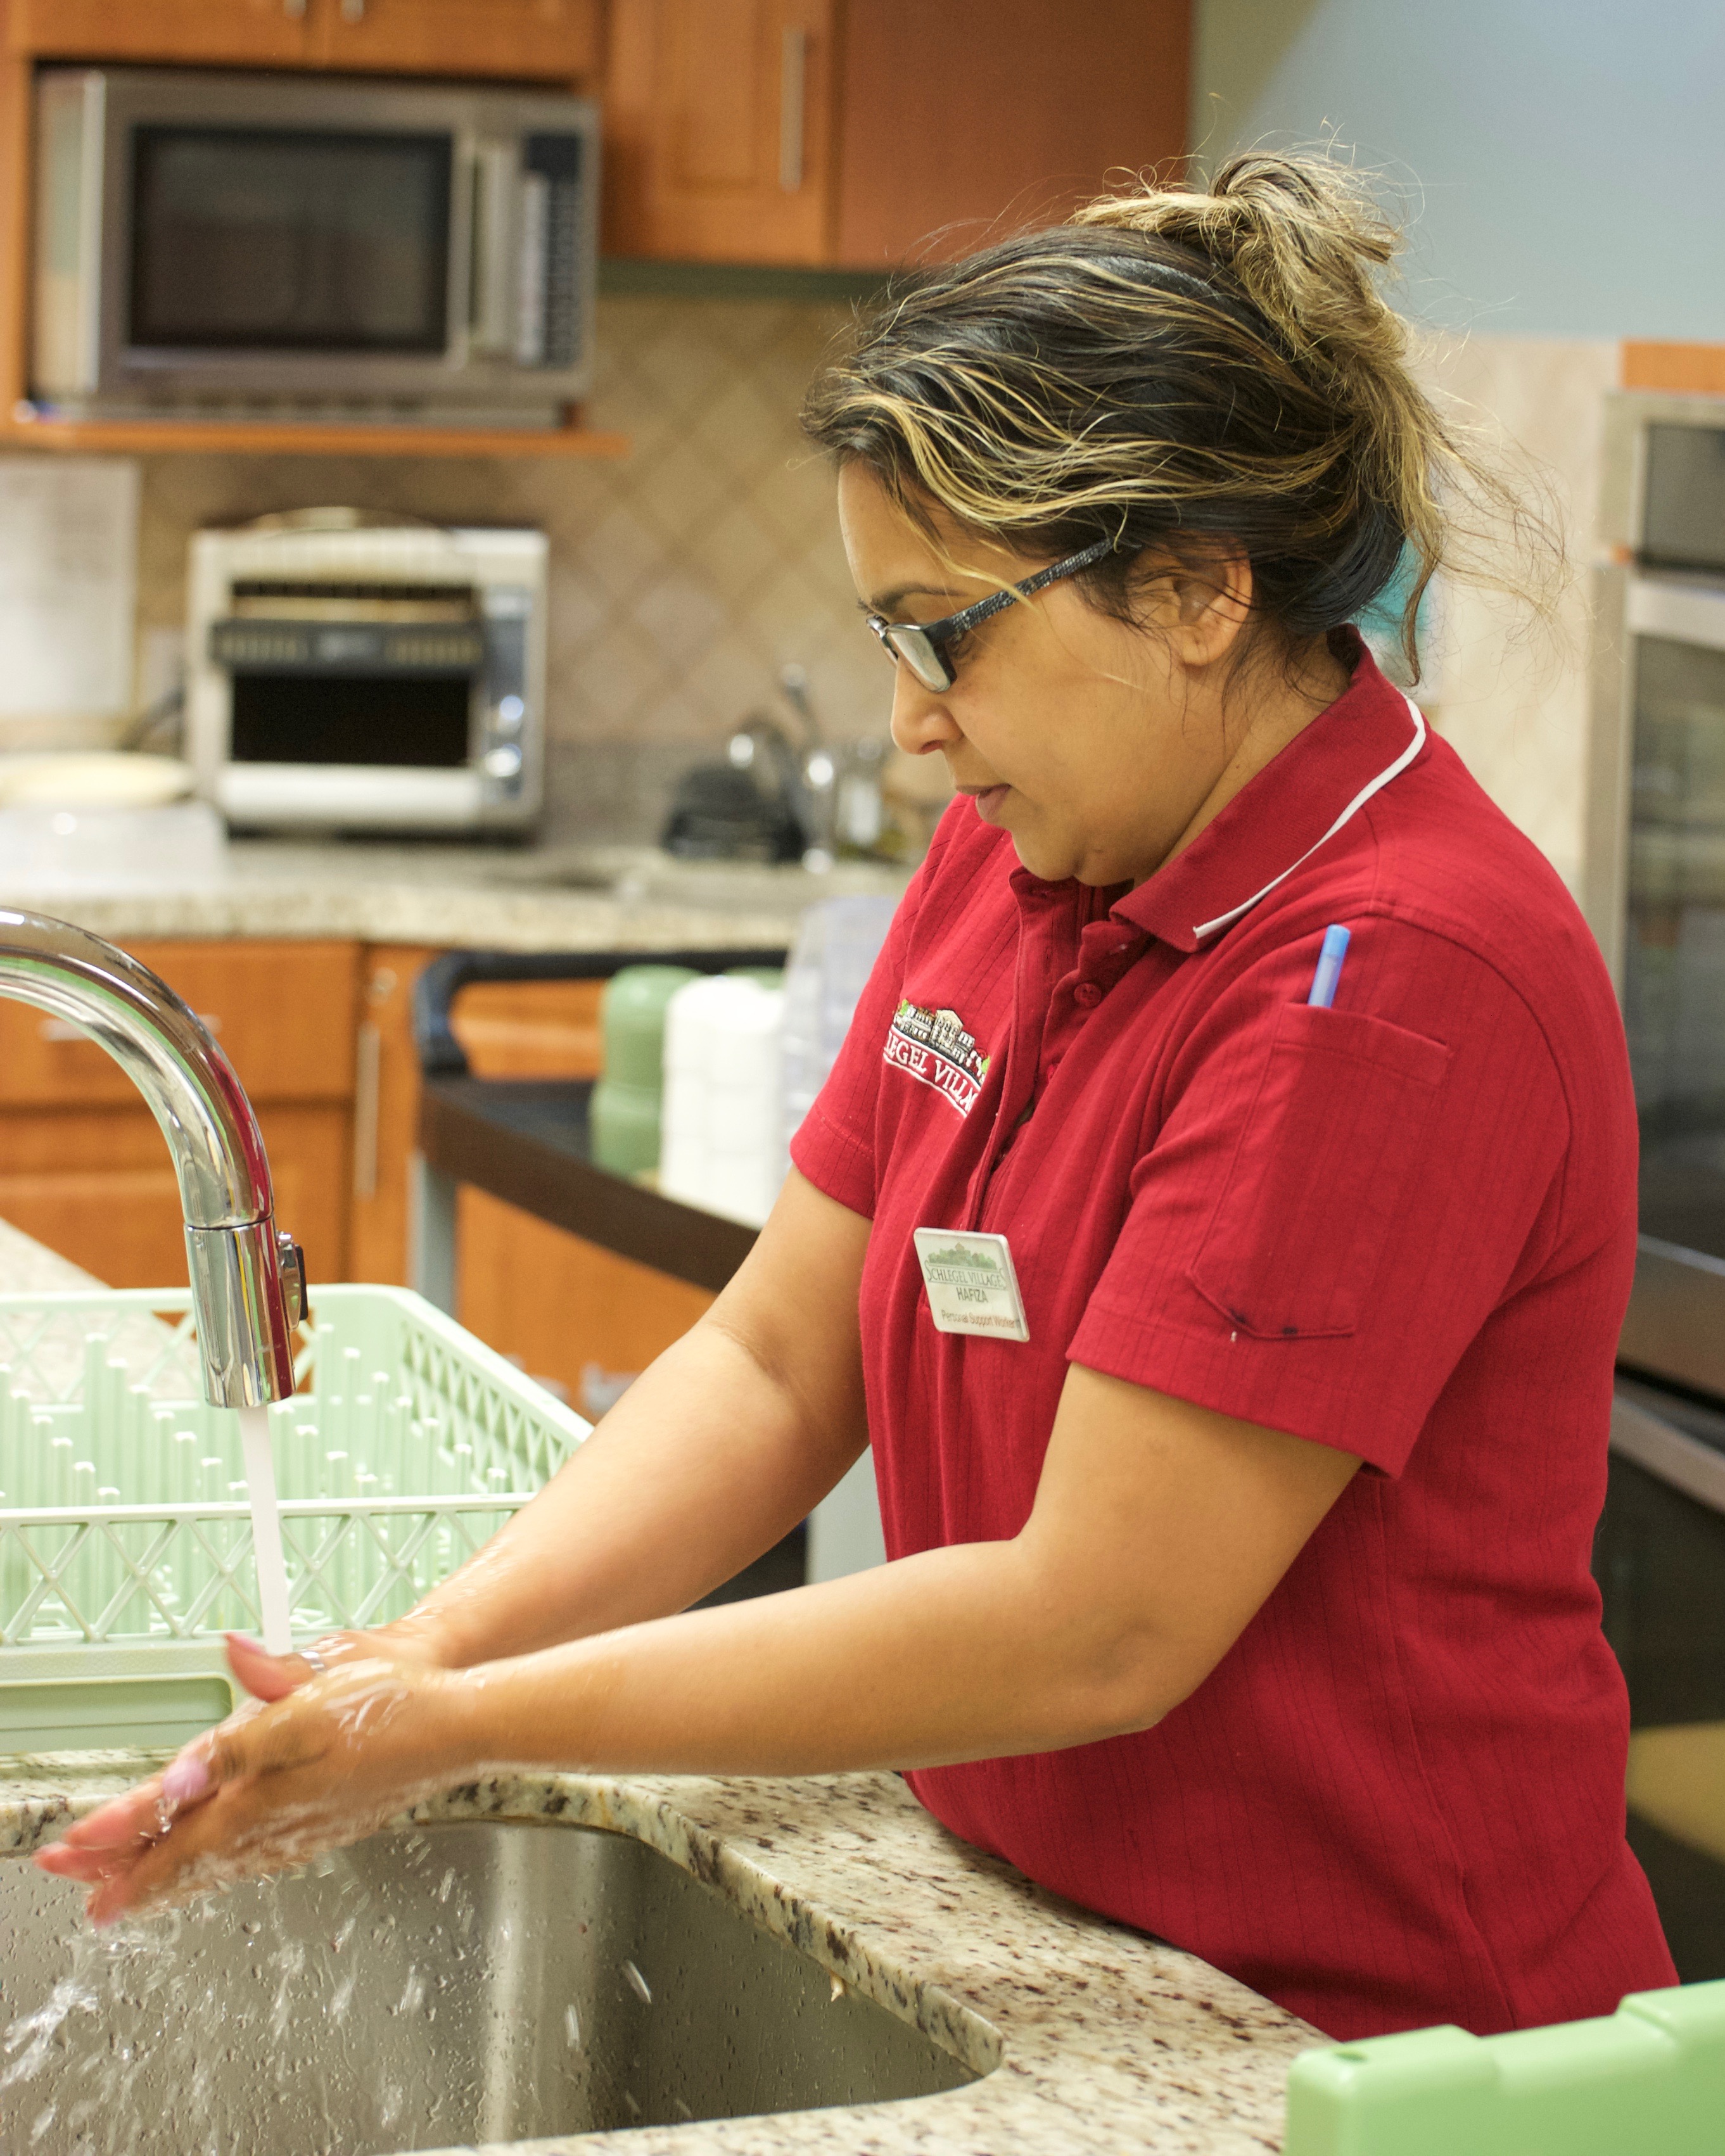
<svg viewBox="0 0 1725 2156">
<path fill-rule="evenodd" d="M 690 981 L 664 1013 L 660 1190 L 759 1227 L 785 1181 L 785 992 L 750 975 Z"/>
</svg>

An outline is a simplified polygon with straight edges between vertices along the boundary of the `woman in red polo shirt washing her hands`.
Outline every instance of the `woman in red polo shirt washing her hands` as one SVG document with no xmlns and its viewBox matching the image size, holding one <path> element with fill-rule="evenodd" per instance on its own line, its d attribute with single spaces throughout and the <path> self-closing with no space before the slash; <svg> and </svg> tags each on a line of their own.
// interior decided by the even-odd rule
<svg viewBox="0 0 1725 2156">
<path fill-rule="evenodd" d="M 1589 1578 L 1624 1039 L 1348 627 L 1481 483 L 1389 254 L 1333 166 L 1248 157 L 858 328 L 806 423 L 962 798 L 778 1207 L 420 1611 L 235 1645 L 274 1705 L 41 1858 L 97 1917 L 489 1764 L 901 1768 L 1337 2037 L 1673 1981 Z M 891 1565 L 668 1615 L 869 1440 Z"/>
</svg>

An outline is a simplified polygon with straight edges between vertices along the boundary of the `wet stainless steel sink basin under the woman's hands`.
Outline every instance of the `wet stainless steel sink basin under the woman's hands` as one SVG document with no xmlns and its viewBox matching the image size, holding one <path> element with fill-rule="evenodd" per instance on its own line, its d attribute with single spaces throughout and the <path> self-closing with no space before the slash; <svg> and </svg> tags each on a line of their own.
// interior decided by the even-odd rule
<svg viewBox="0 0 1725 2156">
<path fill-rule="evenodd" d="M 658 1850 L 377 1835 L 99 1936 L 0 1865 L 0 2150 L 384 2156 L 929 2096 L 975 2072 Z"/>
</svg>

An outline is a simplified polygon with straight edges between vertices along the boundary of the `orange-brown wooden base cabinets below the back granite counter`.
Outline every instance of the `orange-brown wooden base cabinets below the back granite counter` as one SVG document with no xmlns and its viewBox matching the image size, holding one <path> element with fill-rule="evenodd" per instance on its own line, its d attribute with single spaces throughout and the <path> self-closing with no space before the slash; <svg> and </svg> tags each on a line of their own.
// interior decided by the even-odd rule
<svg viewBox="0 0 1725 2156">
<path fill-rule="evenodd" d="M 418 1143 L 414 983 L 431 951 L 351 942 L 140 942 L 211 1026 L 263 1128 L 276 1220 L 317 1281 L 410 1279 Z M 597 981 L 477 983 L 455 1033 L 485 1078 L 593 1078 Z M 112 1287 L 185 1279 L 179 1186 L 136 1087 L 95 1041 L 0 1000 L 0 1218 Z M 634 1373 L 712 1296 L 479 1190 L 459 1205 L 457 1315 L 582 1401 Z"/>
</svg>

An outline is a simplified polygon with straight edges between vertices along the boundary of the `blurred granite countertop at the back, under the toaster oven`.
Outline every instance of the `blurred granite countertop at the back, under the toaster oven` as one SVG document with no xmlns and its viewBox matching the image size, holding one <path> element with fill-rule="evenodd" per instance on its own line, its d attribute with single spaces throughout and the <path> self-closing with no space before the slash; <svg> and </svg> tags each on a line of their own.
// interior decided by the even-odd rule
<svg viewBox="0 0 1725 2156">
<path fill-rule="evenodd" d="M 0 901 L 114 942 L 153 936 L 405 942 L 483 951 L 677 951 L 785 944 L 804 906 L 891 895 L 908 871 L 679 862 L 656 847 L 509 847 L 239 839 L 220 875 L 125 890 L 11 890 Z"/>
</svg>

